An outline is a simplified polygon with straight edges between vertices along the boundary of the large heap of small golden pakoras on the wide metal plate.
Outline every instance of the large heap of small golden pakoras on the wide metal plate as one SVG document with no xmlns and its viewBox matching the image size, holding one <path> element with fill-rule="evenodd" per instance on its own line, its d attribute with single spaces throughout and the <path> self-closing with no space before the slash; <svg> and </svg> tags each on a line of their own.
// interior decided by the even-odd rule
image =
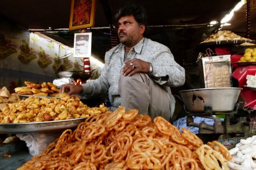
<svg viewBox="0 0 256 170">
<path fill-rule="evenodd" d="M 89 117 L 108 111 L 104 104 L 100 107 L 88 107 L 80 99 L 65 96 L 62 99 L 29 97 L 19 103 L 9 104 L 0 112 L 1 123 L 26 123 L 57 121 L 65 119 Z"/>
</svg>

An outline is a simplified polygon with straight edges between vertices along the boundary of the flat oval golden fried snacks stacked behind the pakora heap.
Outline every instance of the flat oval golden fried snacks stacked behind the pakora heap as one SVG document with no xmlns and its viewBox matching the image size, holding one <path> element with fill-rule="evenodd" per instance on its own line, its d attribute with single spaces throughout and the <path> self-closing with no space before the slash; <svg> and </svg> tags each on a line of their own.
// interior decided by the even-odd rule
<svg viewBox="0 0 256 170">
<path fill-rule="evenodd" d="M 24 82 L 26 87 L 17 87 L 15 92 L 20 95 L 33 95 L 33 96 L 54 96 L 59 94 L 60 90 L 57 88 L 57 85 L 54 85 L 50 82 L 40 84 L 35 84 L 29 81 Z M 62 97 L 62 96 L 60 96 Z"/>
</svg>

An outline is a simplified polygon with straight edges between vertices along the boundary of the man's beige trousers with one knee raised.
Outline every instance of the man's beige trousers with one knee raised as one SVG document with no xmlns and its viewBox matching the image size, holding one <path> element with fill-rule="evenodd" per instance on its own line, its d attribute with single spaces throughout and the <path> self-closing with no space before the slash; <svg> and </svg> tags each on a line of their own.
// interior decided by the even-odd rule
<svg viewBox="0 0 256 170">
<path fill-rule="evenodd" d="M 137 109 L 139 114 L 149 115 L 152 121 L 157 116 L 167 121 L 171 118 L 170 101 L 165 90 L 147 74 L 124 76 L 121 73 L 118 90 L 121 106 L 126 109 Z"/>
</svg>

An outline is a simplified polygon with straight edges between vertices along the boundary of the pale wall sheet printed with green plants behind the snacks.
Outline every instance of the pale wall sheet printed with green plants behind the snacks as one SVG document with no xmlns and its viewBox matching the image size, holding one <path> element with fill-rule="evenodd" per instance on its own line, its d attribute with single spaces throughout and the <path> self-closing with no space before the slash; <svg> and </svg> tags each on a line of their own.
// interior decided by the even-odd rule
<svg viewBox="0 0 256 170">
<path fill-rule="evenodd" d="M 0 87 L 13 90 L 24 81 L 52 81 L 60 66 L 65 71 L 83 71 L 83 58 L 74 58 L 73 48 L 0 21 Z M 97 69 L 92 79 L 100 76 L 102 66 L 91 61 L 91 70 Z"/>
</svg>

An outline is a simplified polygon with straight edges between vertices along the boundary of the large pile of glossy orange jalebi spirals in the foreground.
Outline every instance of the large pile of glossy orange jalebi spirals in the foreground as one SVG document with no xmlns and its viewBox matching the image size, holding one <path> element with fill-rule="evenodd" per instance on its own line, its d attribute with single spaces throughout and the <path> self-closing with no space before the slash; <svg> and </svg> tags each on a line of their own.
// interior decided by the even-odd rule
<svg viewBox="0 0 256 170">
<path fill-rule="evenodd" d="M 226 167 L 230 155 L 225 155 L 228 150 L 221 144 L 203 145 L 188 129 L 181 132 L 162 117 L 152 123 L 148 115 L 137 114 L 138 110 L 125 112 L 125 107 L 119 107 L 91 115 L 19 169 L 208 170 L 221 169 L 218 160 Z"/>
</svg>

